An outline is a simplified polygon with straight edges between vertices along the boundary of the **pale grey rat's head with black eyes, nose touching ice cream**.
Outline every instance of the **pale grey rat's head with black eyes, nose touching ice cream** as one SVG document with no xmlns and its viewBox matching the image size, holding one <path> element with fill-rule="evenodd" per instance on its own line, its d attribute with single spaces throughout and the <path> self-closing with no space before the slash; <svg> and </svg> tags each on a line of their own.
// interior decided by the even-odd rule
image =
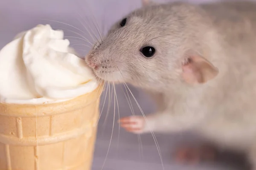
<svg viewBox="0 0 256 170">
<path fill-rule="evenodd" d="M 161 90 L 183 82 L 204 83 L 217 75 L 218 70 L 201 55 L 200 42 L 209 36 L 196 6 L 149 6 L 148 0 L 143 4 L 114 24 L 85 57 L 96 77 Z"/>
</svg>

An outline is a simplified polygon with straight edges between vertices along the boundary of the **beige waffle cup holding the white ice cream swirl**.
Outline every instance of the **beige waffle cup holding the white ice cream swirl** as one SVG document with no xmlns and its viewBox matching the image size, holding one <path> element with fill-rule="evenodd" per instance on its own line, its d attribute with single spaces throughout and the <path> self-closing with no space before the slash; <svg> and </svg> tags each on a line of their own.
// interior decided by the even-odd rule
<svg viewBox="0 0 256 170">
<path fill-rule="evenodd" d="M 52 104 L 0 103 L 0 170 L 90 170 L 101 92 Z"/>
</svg>

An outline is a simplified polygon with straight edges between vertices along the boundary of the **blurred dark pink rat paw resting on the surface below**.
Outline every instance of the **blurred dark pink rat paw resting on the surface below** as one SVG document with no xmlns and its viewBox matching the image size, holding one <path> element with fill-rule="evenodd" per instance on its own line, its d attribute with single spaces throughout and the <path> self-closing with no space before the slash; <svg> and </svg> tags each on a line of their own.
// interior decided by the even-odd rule
<svg viewBox="0 0 256 170">
<path fill-rule="evenodd" d="M 179 163 L 199 164 L 201 161 L 214 161 L 217 150 L 210 146 L 180 147 L 175 157 Z"/>
</svg>

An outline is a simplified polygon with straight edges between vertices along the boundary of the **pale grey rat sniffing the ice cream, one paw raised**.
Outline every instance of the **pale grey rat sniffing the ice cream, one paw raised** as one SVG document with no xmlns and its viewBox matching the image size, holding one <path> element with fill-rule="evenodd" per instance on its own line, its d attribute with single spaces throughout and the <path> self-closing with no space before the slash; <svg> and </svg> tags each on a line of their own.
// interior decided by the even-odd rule
<svg viewBox="0 0 256 170">
<path fill-rule="evenodd" d="M 256 170 L 256 3 L 153 4 L 114 24 L 85 57 L 99 79 L 143 88 L 157 113 L 132 133 L 196 130 L 247 153 Z"/>
</svg>

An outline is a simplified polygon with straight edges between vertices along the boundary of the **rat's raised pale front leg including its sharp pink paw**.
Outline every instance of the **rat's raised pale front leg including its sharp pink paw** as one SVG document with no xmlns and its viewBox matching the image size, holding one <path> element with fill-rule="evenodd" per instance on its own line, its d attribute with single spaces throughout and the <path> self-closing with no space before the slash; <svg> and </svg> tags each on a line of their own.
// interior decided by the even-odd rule
<svg viewBox="0 0 256 170">
<path fill-rule="evenodd" d="M 119 120 L 120 126 L 128 132 L 141 134 L 153 132 L 179 132 L 188 130 L 200 122 L 201 116 L 186 113 L 172 114 L 168 111 L 148 116 L 129 116 Z"/>
</svg>

